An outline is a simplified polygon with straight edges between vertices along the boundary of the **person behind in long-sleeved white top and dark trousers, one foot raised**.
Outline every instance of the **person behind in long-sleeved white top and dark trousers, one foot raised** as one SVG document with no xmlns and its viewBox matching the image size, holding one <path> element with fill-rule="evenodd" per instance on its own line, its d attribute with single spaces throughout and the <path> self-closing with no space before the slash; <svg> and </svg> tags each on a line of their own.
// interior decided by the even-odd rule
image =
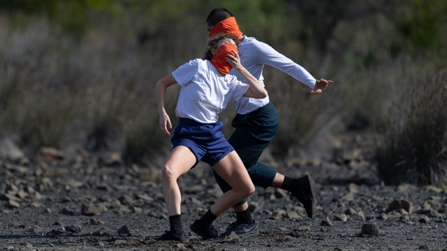
<svg viewBox="0 0 447 251">
<path fill-rule="evenodd" d="M 210 36 L 219 33 L 232 33 L 240 41 L 239 52 L 241 63 L 254 77 L 264 85 L 263 67 L 265 65 L 277 68 L 311 88 L 310 93 L 321 93 L 332 80 L 315 79 L 310 73 L 288 59 L 283 54 L 274 50 L 270 45 L 256 40 L 256 38 L 244 36 L 240 31 L 235 17 L 225 8 L 215 8 L 207 16 L 207 30 Z M 244 82 L 244 79 L 235 71 L 233 74 Z M 244 166 L 249 172 L 254 185 L 261 188 L 282 188 L 291 192 L 304 206 L 307 216 L 312 218 L 316 210 L 316 197 L 314 181 L 308 175 L 300 178 L 290 178 L 280 174 L 267 165 L 258 162 L 263 150 L 276 137 L 279 130 L 279 116 L 277 110 L 265 98 L 244 97 L 235 100 L 236 116 L 231 125 L 235 131 L 228 139 Z M 230 185 L 214 172 L 214 177 L 223 192 L 230 189 Z M 236 221 L 231 223 L 223 235 L 235 232 L 238 236 L 254 236 L 259 234 L 258 225 L 254 222 L 249 211 L 247 199 L 242 199 L 233 206 L 236 213 Z"/>
</svg>

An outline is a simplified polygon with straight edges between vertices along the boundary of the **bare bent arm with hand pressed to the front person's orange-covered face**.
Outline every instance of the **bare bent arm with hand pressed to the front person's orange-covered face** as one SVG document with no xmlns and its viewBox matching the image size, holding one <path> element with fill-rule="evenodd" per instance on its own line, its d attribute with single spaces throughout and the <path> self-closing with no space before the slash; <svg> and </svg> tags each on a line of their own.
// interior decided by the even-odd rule
<svg viewBox="0 0 447 251">
<path fill-rule="evenodd" d="M 251 73 L 249 73 L 249 71 L 246 68 L 244 68 L 244 66 L 242 66 L 242 64 L 240 63 L 239 54 L 237 54 L 235 51 L 233 52 L 235 56 L 228 54 L 228 56 L 226 56 L 226 60 L 228 61 L 228 63 L 231 64 L 231 66 L 233 66 L 233 68 L 235 68 L 237 73 L 239 73 L 242 77 L 244 77 L 245 81 L 250 86 L 250 89 L 247 90 L 247 92 L 244 94 L 244 97 L 249 98 L 267 97 L 268 93 L 267 90 L 265 90 L 264 86 L 258 81 L 258 79 L 256 79 L 256 77 L 251 75 Z"/>
</svg>

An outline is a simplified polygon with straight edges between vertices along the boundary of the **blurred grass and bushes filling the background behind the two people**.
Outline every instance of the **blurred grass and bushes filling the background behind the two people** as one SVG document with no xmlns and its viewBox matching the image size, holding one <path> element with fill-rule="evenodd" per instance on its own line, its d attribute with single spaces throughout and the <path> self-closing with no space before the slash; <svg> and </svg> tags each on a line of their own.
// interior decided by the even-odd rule
<svg viewBox="0 0 447 251">
<path fill-rule="evenodd" d="M 386 182 L 446 182 L 447 1 L 1 0 L 1 136 L 29 154 L 76 145 L 149 161 L 170 146 L 154 84 L 202 56 L 205 18 L 218 6 L 247 36 L 335 82 L 309 95 L 265 67 L 281 116 L 275 151 L 305 147 L 340 117 L 361 118 L 384 135 L 376 152 Z M 177 94 L 168 93 L 173 123 Z M 220 116 L 226 135 L 233 115 Z M 406 172 L 412 178 L 393 178 Z"/>
</svg>

